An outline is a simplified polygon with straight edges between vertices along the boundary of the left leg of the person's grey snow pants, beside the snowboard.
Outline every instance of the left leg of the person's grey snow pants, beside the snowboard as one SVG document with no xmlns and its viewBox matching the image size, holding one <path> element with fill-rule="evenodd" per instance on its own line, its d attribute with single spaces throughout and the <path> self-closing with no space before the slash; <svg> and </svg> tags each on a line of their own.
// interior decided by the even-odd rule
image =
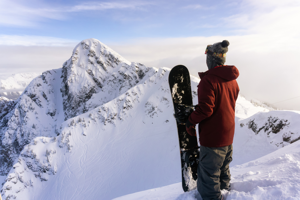
<svg viewBox="0 0 300 200">
<path fill-rule="evenodd" d="M 227 150 L 228 146 L 218 148 L 200 146 L 197 190 L 203 200 L 219 200 L 221 197 L 220 168 L 223 166 Z"/>
</svg>

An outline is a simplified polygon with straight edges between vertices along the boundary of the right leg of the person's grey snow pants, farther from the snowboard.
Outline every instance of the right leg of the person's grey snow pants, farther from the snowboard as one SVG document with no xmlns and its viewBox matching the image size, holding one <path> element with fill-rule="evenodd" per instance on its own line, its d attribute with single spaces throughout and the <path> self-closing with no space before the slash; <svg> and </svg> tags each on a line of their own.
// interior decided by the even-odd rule
<svg viewBox="0 0 300 200">
<path fill-rule="evenodd" d="M 229 186 L 229 181 L 230 181 L 229 163 L 231 161 L 232 161 L 232 145 L 229 145 L 223 165 L 220 167 L 221 170 L 220 188 L 221 189 Z"/>
</svg>

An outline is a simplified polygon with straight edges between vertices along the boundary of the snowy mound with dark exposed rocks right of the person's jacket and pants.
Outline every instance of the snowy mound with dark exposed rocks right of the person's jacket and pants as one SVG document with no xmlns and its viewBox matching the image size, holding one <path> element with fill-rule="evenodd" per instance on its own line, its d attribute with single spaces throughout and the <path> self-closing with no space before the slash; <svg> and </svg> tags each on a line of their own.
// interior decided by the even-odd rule
<svg viewBox="0 0 300 200">
<path fill-rule="evenodd" d="M 299 122 L 299 111 L 264 111 L 247 119 L 236 118 L 230 166 L 255 160 L 299 140 Z"/>
</svg>

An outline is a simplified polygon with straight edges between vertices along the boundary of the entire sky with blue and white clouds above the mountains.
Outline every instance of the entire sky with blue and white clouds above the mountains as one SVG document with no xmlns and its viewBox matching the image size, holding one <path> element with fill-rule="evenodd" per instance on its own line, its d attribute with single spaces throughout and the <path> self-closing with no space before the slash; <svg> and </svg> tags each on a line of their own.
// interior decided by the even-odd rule
<svg viewBox="0 0 300 200">
<path fill-rule="evenodd" d="M 129 61 L 207 70 L 208 44 L 229 40 L 241 94 L 268 103 L 300 96 L 299 0 L 0 1 L 0 79 L 60 68 L 96 38 Z M 300 98 L 276 104 L 300 110 Z"/>
</svg>

